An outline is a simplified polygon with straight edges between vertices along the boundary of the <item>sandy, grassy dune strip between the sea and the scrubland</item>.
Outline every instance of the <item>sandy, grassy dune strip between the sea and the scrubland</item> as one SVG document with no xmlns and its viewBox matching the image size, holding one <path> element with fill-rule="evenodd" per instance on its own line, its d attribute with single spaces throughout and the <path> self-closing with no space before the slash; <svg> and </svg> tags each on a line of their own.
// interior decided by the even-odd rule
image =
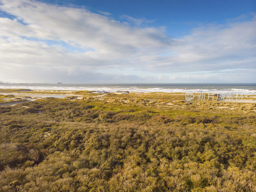
<svg viewBox="0 0 256 192">
<path fill-rule="evenodd" d="M 194 100 L 186 100 L 185 99 L 185 93 L 177 92 L 177 93 L 166 93 L 166 92 L 129 92 L 128 94 L 116 94 L 115 92 L 105 93 L 105 94 L 97 94 L 92 93 L 90 91 L 72 91 L 72 90 L 31 90 L 31 91 L 17 91 L 12 89 L 1 89 L 0 95 L 12 95 L 14 97 L 23 97 L 26 98 L 25 100 L 10 100 L 0 102 L 0 105 L 15 105 L 20 102 L 28 102 L 33 101 L 37 99 L 42 98 L 71 98 L 75 97 L 76 100 L 80 100 L 86 97 L 92 97 L 92 98 L 98 98 L 100 100 L 106 100 L 108 102 L 111 98 L 130 98 L 130 99 L 145 99 L 149 101 L 154 100 L 167 100 L 167 101 L 184 101 L 184 102 L 202 102 L 202 103 L 216 103 L 216 102 L 223 102 L 223 103 L 256 103 L 256 95 L 243 95 L 243 99 L 241 100 L 230 100 L 230 99 L 224 99 L 224 100 L 200 100 L 198 98 L 202 93 L 193 93 L 195 95 Z M 207 97 L 207 95 L 205 94 Z M 20 98 L 19 98 L 20 99 Z"/>
</svg>

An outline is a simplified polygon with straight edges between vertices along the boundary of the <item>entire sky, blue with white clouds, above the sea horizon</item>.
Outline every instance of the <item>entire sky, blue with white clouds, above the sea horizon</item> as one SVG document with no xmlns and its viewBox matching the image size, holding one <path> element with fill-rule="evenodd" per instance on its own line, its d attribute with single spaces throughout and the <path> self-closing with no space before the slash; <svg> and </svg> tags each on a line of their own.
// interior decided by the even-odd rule
<svg viewBox="0 0 256 192">
<path fill-rule="evenodd" d="M 255 34 L 255 0 L 0 0 L 0 80 L 255 83 Z"/>
</svg>

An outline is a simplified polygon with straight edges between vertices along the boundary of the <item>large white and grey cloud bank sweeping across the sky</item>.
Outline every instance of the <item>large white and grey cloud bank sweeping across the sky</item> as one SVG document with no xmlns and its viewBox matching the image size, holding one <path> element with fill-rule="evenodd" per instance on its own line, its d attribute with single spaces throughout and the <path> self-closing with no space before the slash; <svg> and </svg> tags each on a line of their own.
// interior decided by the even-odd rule
<svg viewBox="0 0 256 192">
<path fill-rule="evenodd" d="M 162 28 L 142 27 L 143 23 L 152 22 L 144 18 L 124 15 L 128 23 L 122 23 L 106 17 L 110 13 L 97 14 L 85 8 L 31 0 L 0 0 L 0 3 L 0 10 L 16 17 L 0 17 L 0 63 L 6 69 L 0 71 L 0 78 L 14 78 L 13 74 L 21 78 L 19 71 L 24 69 L 22 78 L 38 82 L 38 76 L 30 75 L 33 68 L 34 73 L 44 74 L 40 81 L 55 73 L 63 80 L 79 82 L 88 81 L 83 76 L 98 74 L 99 69 L 135 68 L 141 77 L 103 73 L 100 76 L 106 81 L 119 82 L 122 79 L 128 82 L 195 80 L 201 77 L 189 73 L 202 71 L 204 79 L 212 80 L 215 76 L 221 81 L 218 74 L 207 73 L 243 68 L 250 77 L 248 81 L 256 80 L 256 16 L 253 14 L 251 19 L 243 15 L 226 24 L 209 24 L 193 29 L 188 36 L 172 39 Z M 144 72 L 148 76 L 143 77 Z M 166 75 L 184 72 L 185 75 Z M 153 73 L 158 75 L 152 76 Z M 235 74 L 226 72 L 229 80 L 239 76 L 239 71 Z"/>
</svg>

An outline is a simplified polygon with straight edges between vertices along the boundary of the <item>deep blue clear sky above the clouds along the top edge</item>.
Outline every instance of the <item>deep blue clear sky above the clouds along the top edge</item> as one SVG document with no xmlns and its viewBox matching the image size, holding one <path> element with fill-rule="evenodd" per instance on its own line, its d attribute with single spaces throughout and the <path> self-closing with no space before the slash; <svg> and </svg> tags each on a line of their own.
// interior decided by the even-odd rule
<svg viewBox="0 0 256 192">
<path fill-rule="evenodd" d="M 230 18 L 255 12 L 255 0 L 86 0 L 43 1 L 64 6 L 84 6 L 92 12 L 108 12 L 116 20 L 126 21 L 122 15 L 144 18 L 145 25 L 165 26 L 168 35 L 181 37 L 197 26 L 208 23 L 226 23 Z M 134 23 L 132 23 L 134 24 Z"/>
</svg>

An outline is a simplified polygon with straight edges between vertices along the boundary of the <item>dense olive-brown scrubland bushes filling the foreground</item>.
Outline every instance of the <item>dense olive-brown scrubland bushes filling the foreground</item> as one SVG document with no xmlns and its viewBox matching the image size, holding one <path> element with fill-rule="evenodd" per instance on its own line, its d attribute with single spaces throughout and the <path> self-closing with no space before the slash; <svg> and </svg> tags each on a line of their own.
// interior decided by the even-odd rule
<svg viewBox="0 0 256 192">
<path fill-rule="evenodd" d="M 249 103 L 128 94 L 2 106 L 0 191 L 256 191 L 255 127 Z"/>
</svg>

